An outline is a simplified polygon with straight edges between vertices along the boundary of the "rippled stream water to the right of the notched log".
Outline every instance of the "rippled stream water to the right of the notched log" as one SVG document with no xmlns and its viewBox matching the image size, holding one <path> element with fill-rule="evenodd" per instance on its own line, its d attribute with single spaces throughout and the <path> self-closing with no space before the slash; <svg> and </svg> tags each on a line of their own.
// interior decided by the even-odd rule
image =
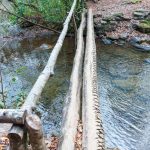
<svg viewBox="0 0 150 150">
<path fill-rule="evenodd" d="M 97 42 L 98 85 L 106 145 L 150 149 L 150 53 Z"/>
</svg>

